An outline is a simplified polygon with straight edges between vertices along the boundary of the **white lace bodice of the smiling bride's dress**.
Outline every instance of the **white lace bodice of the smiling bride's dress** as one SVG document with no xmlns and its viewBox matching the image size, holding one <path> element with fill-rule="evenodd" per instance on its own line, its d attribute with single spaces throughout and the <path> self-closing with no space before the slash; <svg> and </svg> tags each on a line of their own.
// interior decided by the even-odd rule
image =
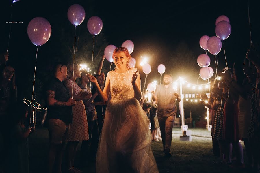
<svg viewBox="0 0 260 173">
<path fill-rule="evenodd" d="M 115 71 L 110 71 L 107 73 L 107 77 L 110 80 L 112 100 L 134 97 L 133 85 L 131 81 L 133 73 L 136 70 L 136 68 L 131 68 L 125 73 L 116 73 Z"/>
</svg>

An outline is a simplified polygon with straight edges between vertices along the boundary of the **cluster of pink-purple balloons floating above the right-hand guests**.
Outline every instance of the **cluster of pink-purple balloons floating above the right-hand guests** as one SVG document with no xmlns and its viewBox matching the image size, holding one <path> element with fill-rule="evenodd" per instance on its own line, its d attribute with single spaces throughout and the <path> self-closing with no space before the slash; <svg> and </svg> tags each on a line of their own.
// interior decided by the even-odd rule
<svg viewBox="0 0 260 173">
<path fill-rule="evenodd" d="M 215 21 L 215 26 L 216 26 L 215 33 L 217 36 L 209 37 L 207 35 L 204 35 L 200 38 L 200 47 L 203 50 L 206 50 L 206 54 L 201 54 L 200 56 L 198 56 L 197 59 L 198 65 L 202 67 L 200 69 L 200 77 L 203 80 L 209 79 L 210 77 L 213 76 L 212 74 L 213 69 L 211 67 L 208 67 L 210 65 L 210 58 L 209 56 L 207 56 L 207 50 L 209 51 L 209 53 L 213 55 L 217 55 L 221 51 L 223 40 L 226 40 L 231 34 L 231 25 L 229 23 L 229 18 L 227 16 L 224 15 L 219 16 Z M 226 60 L 225 48 L 224 48 L 224 54 Z M 207 67 L 207 69 L 205 67 Z"/>
</svg>

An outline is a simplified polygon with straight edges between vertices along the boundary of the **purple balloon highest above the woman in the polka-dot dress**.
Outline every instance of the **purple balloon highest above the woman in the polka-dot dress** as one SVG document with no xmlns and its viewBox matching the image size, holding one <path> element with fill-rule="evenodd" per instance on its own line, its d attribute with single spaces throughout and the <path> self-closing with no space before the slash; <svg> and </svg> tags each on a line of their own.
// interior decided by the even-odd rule
<svg viewBox="0 0 260 173">
<path fill-rule="evenodd" d="M 85 19 L 85 10 L 79 4 L 73 4 L 69 7 L 68 12 L 68 20 L 75 26 L 80 25 Z"/>
</svg>

